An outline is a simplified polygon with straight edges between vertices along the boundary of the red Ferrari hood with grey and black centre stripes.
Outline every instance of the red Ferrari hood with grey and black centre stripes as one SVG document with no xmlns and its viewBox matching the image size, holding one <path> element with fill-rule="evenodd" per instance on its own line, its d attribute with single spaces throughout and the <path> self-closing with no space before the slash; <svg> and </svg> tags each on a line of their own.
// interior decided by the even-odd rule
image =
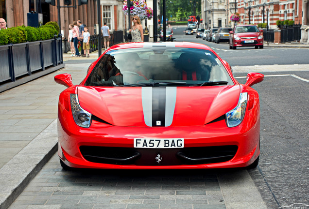
<svg viewBox="0 0 309 209">
<path fill-rule="evenodd" d="M 115 126 L 205 125 L 233 109 L 240 85 L 213 87 L 78 87 L 81 107 Z"/>
</svg>

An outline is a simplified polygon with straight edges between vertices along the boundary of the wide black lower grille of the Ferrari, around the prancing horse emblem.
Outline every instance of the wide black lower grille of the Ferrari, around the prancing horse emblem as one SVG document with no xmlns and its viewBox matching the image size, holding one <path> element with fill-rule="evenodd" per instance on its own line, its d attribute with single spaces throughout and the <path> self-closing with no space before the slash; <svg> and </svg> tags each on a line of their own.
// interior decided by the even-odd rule
<svg viewBox="0 0 309 209">
<path fill-rule="evenodd" d="M 185 165 L 211 164 L 231 160 L 238 147 L 212 146 L 181 149 L 137 149 L 117 147 L 81 146 L 83 157 L 93 163 L 122 165 Z M 162 160 L 158 163 L 156 157 Z"/>
</svg>

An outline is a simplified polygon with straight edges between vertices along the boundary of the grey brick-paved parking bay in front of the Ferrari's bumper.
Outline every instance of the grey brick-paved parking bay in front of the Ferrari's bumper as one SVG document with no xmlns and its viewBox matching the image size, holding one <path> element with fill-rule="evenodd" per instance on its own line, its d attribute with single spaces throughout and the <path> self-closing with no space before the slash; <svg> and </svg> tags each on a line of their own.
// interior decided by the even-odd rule
<svg viewBox="0 0 309 209">
<path fill-rule="evenodd" d="M 213 170 L 64 171 L 55 154 L 9 209 L 225 209 Z"/>
</svg>

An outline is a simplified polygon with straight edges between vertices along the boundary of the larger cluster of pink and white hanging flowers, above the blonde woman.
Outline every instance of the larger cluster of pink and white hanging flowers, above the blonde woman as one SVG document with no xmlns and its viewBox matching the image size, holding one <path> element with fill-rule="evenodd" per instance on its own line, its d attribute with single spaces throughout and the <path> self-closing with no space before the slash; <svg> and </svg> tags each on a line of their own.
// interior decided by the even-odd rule
<svg viewBox="0 0 309 209">
<path fill-rule="evenodd" d="M 131 0 L 133 6 L 130 7 L 130 15 L 137 15 L 140 19 L 151 19 L 153 17 L 153 10 L 147 7 L 145 0 Z M 122 10 L 125 15 L 128 15 L 127 0 L 123 1 Z"/>
</svg>

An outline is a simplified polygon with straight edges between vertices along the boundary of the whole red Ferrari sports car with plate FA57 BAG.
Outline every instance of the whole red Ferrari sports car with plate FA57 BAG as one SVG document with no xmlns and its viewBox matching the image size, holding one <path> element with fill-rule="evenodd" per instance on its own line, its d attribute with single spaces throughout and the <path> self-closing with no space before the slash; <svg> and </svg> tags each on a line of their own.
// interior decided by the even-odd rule
<svg viewBox="0 0 309 209">
<path fill-rule="evenodd" d="M 255 167 L 260 112 L 256 90 L 208 46 L 194 43 L 114 45 L 58 106 L 63 168 L 193 169 Z"/>
</svg>

